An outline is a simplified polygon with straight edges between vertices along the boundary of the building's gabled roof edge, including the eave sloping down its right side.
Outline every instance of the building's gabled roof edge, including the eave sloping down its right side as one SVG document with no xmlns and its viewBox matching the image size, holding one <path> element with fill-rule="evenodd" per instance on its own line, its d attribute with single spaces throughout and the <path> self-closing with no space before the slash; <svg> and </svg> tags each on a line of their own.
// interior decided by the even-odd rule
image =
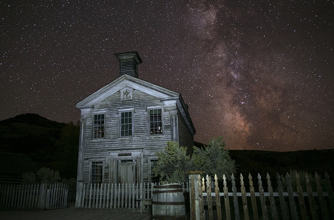
<svg viewBox="0 0 334 220">
<path fill-rule="evenodd" d="M 186 109 L 186 104 L 180 93 L 170 90 L 168 88 L 157 86 L 145 80 L 129 76 L 127 74 L 118 77 L 110 84 L 88 95 L 86 98 L 76 103 L 75 106 L 80 110 L 93 108 L 94 105 L 98 104 L 103 99 L 111 96 L 115 92 L 118 92 L 125 87 L 142 91 L 154 97 L 160 98 L 161 101 L 175 100 L 184 120 L 188 125 L 190 132 L 195 134 L 196 131 L 194 125 L 191 121 L 189 113 Z"/>
</svg>

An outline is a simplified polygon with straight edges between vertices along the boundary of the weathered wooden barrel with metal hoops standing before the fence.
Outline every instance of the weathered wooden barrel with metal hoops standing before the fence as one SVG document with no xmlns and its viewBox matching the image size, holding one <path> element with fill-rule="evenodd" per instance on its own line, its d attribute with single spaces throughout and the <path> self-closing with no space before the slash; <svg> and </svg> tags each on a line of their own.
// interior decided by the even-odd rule
<svg viewBox="0 0 334 220">
<path fill-rule="evenodd" d="M 181 184 L 153 186 L 153 220 L 185 220 L 186 207 Z"/>
</svg>

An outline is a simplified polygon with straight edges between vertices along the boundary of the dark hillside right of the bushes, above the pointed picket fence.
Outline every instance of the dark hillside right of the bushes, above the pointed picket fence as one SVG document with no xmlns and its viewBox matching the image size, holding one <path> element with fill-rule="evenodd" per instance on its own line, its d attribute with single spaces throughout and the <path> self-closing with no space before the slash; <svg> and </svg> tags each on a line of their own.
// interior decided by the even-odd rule
<svg viewBox="0 0 334 220">
<path fill-rule="evenodd" d="M 334 149 L 303 150 L 303 151 L 259 151 L 259 150 L 229 150 L 237 166 L 238 178 L 251 174 L 257 178 L 258 173 L 266 181 L 266 174 L 276 181 L 276 174 L 286 175 L 290 170 L 305 171 L 314 176 L 315 172 L 324 178 L 328 173 L 334 183 Z M 263 180 L 263 179 L 262 179 Z"/>
</svg>

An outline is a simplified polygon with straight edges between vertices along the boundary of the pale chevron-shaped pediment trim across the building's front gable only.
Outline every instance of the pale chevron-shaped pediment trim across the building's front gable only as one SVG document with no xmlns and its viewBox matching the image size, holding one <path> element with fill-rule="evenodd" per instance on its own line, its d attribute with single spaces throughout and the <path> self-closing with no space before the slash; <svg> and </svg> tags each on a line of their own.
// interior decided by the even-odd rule
<svg viewBox="0 0 334 220">
<path fill-rule="evenodd" d="M 114 93 L 119 91 L 126 91 L 126 89 L 129 90 L 128 92 L 131 92 L 131 89 L 136 89 L 160 99 L 178 99 L 180 97 L 180 93 L 178 92 L 124 74 L 118 77 L 116 80 L 112 81 L 110 84 L 100 88 L 99 90 L 76 103 L 76 107 L 80 109 L 94 106 Z"/>
</svg>

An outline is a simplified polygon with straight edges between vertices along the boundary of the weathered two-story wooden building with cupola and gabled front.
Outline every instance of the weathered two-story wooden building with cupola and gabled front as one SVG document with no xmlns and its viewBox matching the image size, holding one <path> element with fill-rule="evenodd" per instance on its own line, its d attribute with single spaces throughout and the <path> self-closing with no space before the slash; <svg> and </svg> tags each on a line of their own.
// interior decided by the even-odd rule
<svg viewBox="0 0 334 220">
<path fill-rule="evenodd" d="M 138 52 L 115 56 L 120 76 L 76 104 L 81 111 L 78 188 L 155 181 L 155 152 L 167 141 L 192 150 L 195 128 L 181 94 L 139 79 Z"/>
</svg>

